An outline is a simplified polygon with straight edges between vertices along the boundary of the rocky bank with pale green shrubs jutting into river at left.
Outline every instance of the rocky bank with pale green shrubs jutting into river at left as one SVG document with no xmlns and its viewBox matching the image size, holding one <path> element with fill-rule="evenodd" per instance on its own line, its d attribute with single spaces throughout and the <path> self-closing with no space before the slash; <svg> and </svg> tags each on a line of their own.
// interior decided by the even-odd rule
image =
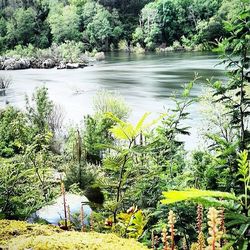
<svg viewBox="0 0 250 250">
<path fill-rule="evenodd" d="M 18 45 L 14 50 L 0 55 L 0 70 L 76 69 L 91 66 L 96 61 L 104 59 L 104 52 L 85 52 L 82 44 L 76 42 L 53 44 L 47 49 Z"/>
</svg>

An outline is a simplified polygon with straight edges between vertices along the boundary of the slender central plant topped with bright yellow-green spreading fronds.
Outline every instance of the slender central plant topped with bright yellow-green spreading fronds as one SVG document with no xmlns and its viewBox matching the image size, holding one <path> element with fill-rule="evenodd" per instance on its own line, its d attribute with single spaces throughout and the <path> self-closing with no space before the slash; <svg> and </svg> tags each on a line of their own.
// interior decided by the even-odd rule
<svg viewBox="0 0 250 250">
<path fill-rule="evenodd" d="M 117 212 L 123 203 L 126 191 L 133 186 L 136 178 L 140 176 L 140 168 L 136 168 L 137 158 L 134 149 L 137 147 L 136 142 L 139 136 L 149 129 L 157 120 L 145 123 L 149 113 L 145 113 L 136 125 L 129 122 L 124 122 L 112 113 L 106 114 L 107 118 L 113 120 L 114 125 L 110 132 L 114 136 L 116 145 L 108 146 L 112 152 L 104 158 L 105 172 L 109 176 L 110 182 L 112 181 L 111 190 L 112 194 L 112 213 L 114 216 L 114 223 L 117 222 Z"/>
</svg>

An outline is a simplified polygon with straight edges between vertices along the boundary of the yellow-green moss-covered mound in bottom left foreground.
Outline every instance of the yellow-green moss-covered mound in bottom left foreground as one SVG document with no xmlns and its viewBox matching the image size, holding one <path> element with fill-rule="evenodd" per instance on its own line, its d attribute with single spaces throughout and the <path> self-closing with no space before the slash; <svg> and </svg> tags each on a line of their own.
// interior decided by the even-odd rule
<svg viewBox="0 0 250 250">
<path fill-rule="evenodd" d="M 133 239 L 122 239 L 114 234 L 63 231 L 50 225 L 0 220 L 0 249 L 145 250 L 147 248 Z"/>
</svg>

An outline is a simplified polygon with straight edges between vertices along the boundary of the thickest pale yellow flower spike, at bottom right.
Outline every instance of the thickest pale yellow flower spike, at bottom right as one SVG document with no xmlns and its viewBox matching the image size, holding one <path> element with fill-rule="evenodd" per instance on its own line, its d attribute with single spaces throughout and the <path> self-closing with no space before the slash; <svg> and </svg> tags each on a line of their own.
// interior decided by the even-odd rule
<svg viewBox="0 0 250 250">
<path fill-rule="evenodd" d="M 221 219 L 219 218 L 219 211 L 214 207 L 210 207 L 208 211 L 208 237 L 207 242 L 208 246 L 206 250 L 220 250 L 220 239 L 223 235 L 223 232 L 219 230 Z"/>
</svg>

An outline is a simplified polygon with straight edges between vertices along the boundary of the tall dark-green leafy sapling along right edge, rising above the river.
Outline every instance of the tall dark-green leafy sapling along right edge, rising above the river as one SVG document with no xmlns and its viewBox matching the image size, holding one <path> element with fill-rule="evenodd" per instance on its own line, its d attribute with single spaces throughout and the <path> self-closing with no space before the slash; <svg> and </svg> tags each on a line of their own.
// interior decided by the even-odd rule
<svg viewBox="0 0 250 250">
<path fill-rule="evenodd" d="M 223 103 L 229 108 L 232 127 L 238 131 L 239 147 L 241 150 L 247 149 L 249 144 L 249 131 L 247 128 L 248 109 L 250 106 L 246 88 L 249 79 L 246 72 L 249 68 L 249 11 L 243 9 L 239 16 L 226 23 L 226 29 L 230 32 L 230 37 L 223 42 L 224 63 L 229 69 L 230 81 L 226 84 L 213 85 L 216 101 Z M 226 51 L 231 51 L 227 54 Z M 238 58 L 234 58 L 237 56 Z"/>
</svg>

